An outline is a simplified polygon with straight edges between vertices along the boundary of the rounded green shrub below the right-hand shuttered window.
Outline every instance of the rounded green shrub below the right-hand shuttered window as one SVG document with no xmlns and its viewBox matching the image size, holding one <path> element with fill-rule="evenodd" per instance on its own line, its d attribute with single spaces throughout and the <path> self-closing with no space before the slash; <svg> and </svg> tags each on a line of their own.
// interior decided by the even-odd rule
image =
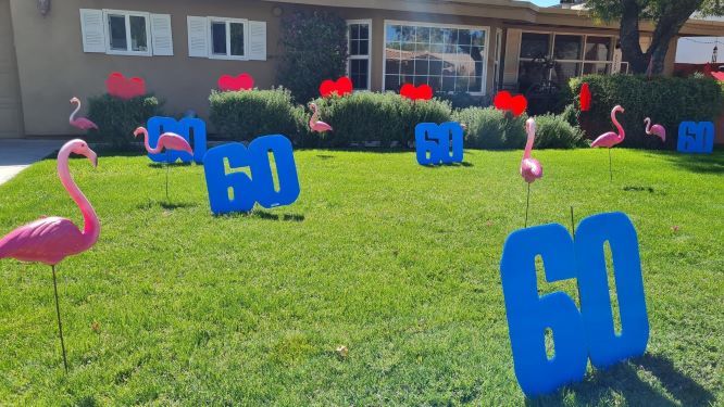
<svg viewBox="0 0 724 407">
<path fill-rule="evenodd" d="M 252 140 L 258 136 L 282 133 L 299 142 L 301 107 L 291 102 L 284 88 L 220 92 L 209 97 L 209 120 L 224 138 Z"/>
</svg>

